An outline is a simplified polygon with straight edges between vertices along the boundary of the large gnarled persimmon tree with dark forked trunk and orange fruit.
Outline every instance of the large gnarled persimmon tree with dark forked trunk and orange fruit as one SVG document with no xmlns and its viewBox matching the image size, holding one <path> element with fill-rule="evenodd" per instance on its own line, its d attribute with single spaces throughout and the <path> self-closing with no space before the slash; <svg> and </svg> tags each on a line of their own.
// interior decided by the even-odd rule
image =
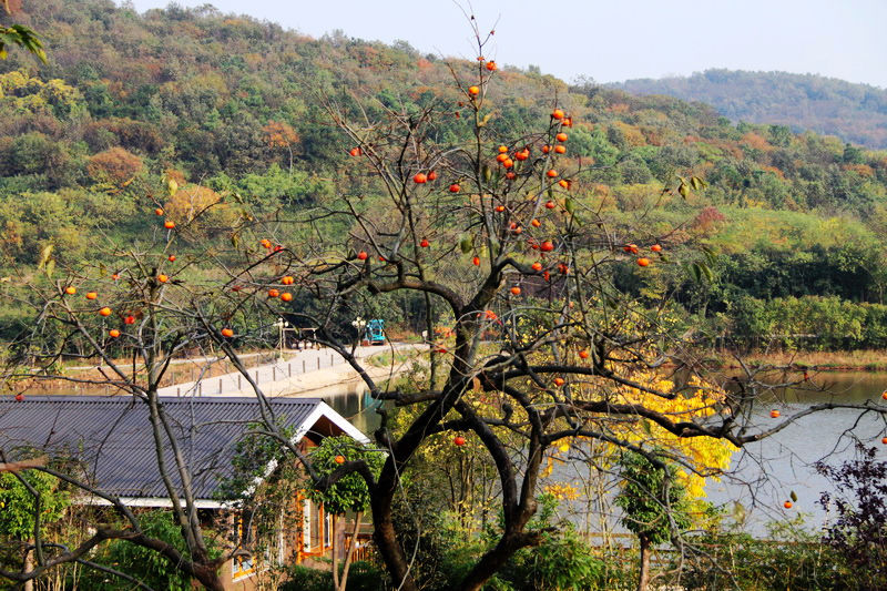
<svg viewBox="0 0 887 591">
<path fill-rule="evenodd" d="M 654 233 L 643 211 L 614 218 L 584 186 L 595 165 L 570 154 L 571 128 L 580 122 L 557 95 L 528 129 L 498 125 L 498 65 L 482 57 L 492 33 L 476 33 L 476 64 L 452 64 L 452 88 L 419 108 L 359 91 L 325 99 L 347 137 L 351 162 L 341 174 L 360 188 L 297 221 L 308 228 L 296 253 L 298 283 L 329 314 L 296 316 L 319 326 L 322 340 L 356 370 L 360 364 L 336 342 L 335 316 L 385 294 L 418 293 L 425 302 L 428 379 L 391 388 L 363 374 L 375 399 L 416 407 L 415 417 L 396 430 L 383 411 L 375 438 L 388 456 L 378 477 L 348 461 L 318 482 L 323 489 L 355 471 L 366 479 L 377 550 L 407 590 L 418 587 L 392 507 L 401 475 L 432 436 L 455 436 L 456 446 L 478 442 L 498 472 L 501 536 L 459 583 L 476 590 L 517 550 L 540 543 L 527 523 L 546 457 L 563 441 L 602 441 L 663 469 L 664 454 L 704 477 L 725 466 L 724 450 L 845 406 L 818 405 L 755 425 L 752 410 L 772 391 L 765 373 L 746 373 L 726 389 L 682 338 L 667 293 L 626 295 L 618 277 L 642 281 L 682 263 L 670 253 L 667 233 Z M 651 201 L 686 198 L 704 184 L 679 176 Z M 347 241 L 320 231 L 332 220 L 348 228 Z M 687 254 L 686 268 L 704 281 L 704 257 Z M 435 339 L 438 317 L 451 323 L 451 343 Z M 672 445 L 653 454 L 663 435 Z M 703 451 L 707 441 L 720 450 Z M 706 467 L 703 457 L 717 460 Z"/>
</svg>

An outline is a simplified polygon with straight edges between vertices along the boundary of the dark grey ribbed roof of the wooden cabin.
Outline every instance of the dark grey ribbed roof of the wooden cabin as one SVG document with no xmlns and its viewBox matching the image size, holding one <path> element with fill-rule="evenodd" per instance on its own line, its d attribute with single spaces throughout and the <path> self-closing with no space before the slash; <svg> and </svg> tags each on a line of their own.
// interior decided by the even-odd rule
<svg viewBox="0 0 887 591">
<path fill-rule="evenodd" d="M 230 476 L 237 440 L 259 417 L 252 398 L 162 398 L 181 451 L 191 466 L 194 493 L 212 499 Z M 274 398 L 277 419 L 298 429 L 320 405 L 316 398 Z M 0 448 L 39 448 L 79 459 L 99 488 L 121 497 L 166 498 L 160 478 L 149 407 L 130 396 L 0 396 Z M 165 447 L 169 471 L 174 463 Z M 174 475 L 174 482 L 181 480 Z"/>
</svg>

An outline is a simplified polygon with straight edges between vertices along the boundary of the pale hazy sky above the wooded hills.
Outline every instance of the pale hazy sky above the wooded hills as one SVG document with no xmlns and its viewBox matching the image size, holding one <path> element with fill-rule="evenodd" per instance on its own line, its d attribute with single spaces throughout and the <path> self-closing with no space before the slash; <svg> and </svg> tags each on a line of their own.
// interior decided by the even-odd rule
<svg viewBox="0 0 887 591">
<path fill-rule="evenodd" d="M 134 0 L 140 11 L 167 3 Z M 360 39 L 405 40 L 424 53 L 475 57 L 466 19 L 451 0 L 211 3 L 312 37 L 340 29 Z M 488 59 L 539 65 L 567 81 L 730 68 L 818 73 L 887 88 L 887 0 L 475 0 L 472 6 L 482 29 L 496 23 Z"/>
</svg>

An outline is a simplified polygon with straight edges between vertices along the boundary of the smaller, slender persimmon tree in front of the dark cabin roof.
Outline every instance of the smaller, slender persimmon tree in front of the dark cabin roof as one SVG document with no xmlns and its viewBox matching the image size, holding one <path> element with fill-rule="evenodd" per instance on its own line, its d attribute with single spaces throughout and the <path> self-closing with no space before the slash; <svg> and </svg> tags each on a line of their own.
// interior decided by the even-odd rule
<svg viewBox="0 0 887 591">
<path fill-rule="evenodd" d="M 172 185 L 170 193 L 172 198 L 175 193 Z M 130 396 L 134 404 L 145 405 L 157 473 L 187 553 L 146 536 L 137 511 L 120 496 L 103 490 L 92 478 L 91 467 L 80 466 L 72 471 L 60 468 L 57 462 L 7 459 L 7 454 L 28 454 L 28 450 L 3 450 L 4 467 L 31 468 L 52 475 L 80 496 L 104 500 L 122 521 L 120 527 L 95 523 L 94 533 L 75 548 L 52 547 L 41 540 L 38 532 L 26 550 L 26 556 L 31 551 L 35 556 L 33 568 L 1 570 L 0 575 L 7 579 L 30 581 L 68 562 L 94 567 L 86 560 L 89 552 L 106 540 L 121 539 L 165 557 L 171 568 L 193 577 L 207 589 L 222 589 L 218 568 L 233 557 L 248 554 L 239 544 L 220 556 L 211 553 L 195 499 L 195 467 L 190 450 L 181 440 L 182 425 L 179 418 L 169 416 L 159 390 L 174 380 L 188 381 L 183 378 L 184 374 L 174 374 L 176 364 L 185 355 L 191 360 L 187 375 L 200 377 L 208 375 L 213 365 L 224 357 L 222 349 L 232 355 L 228 364 L 242 370 L 244 380 L 255 386 L 244 361 L 228 346 L 235 338 L 231 327 L 268 324 L 257 320 L 268 307 L 264 298 L 254 297 L 257 287 L 251 283 L 249 274 L 252 268 L 279 254 L 279 249 L 257 246 L 261 252 L 256 254 L 236 247 L 226 252 L 206 248 L 177 259 L 173 254 L 176 248 L 206 240 L 207 230 L 203 224 L 207 216 L 212 221 L 211 207 L 194 213 L 186 224 L 179 226 L 171 218 L 162 217 L 164 212 L 160 204 L 156 213 L 161 227 L 153 236 L 143 244 L 112 244 L 101 251 L 103 261 L 98 264 L 83 262 L 77 267 L 59 269 L 51 248 L 43 251 L 41 274 L 37 277 L 22 274 L 20 289 L 14 292 L 22 305 L 34 306 L 37 322 L 10 344 L 3 377 L 7 385 L 19 389 L 19 397 L 27 396 L 41 383 L 60 381 L 85 391 Z M 192 226 L 200 227 L 198 234 L 191 232 Z M 244 264 L 246 258 L 251 262 Z M 264 345 L 266 339 L 262 330 L 256 330 L 253 337 L 241 336 L 238 340 L 248 345 L 251 338 L 255 338 Z M 65 364 L 77 359 L 98 361 L 98 365 L 89 371 L 83 367 L 67 370 Z M 258 406 L 261 416 L 255 419 L 274 424 L 273 410 L 264 397 L 259 399 L 263 403 Z M 192 429 L 197 427 L 191 425 Z M 109 430 L 106 435 L 111 434 Z M 98 450 L 103 441 L 84 445 Z M 39 506 L 39 502 L 34 505 L 35 511 Z M 39 522 L 37 514 L 35 521 Z"/>
</svg>

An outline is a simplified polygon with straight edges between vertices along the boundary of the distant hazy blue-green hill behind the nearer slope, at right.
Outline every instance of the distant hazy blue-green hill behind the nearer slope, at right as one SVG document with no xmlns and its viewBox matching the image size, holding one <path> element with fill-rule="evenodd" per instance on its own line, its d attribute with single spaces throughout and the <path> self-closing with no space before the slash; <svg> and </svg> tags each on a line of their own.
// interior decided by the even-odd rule
<svg viewBox="0 0 887 591">
<path fill-rule="evenodd" d="M 706 70 L 691 77 L 628 80 L 612 86 L 713 105 L 733 121 L 813 130 L 869 147 L 887 147 L 887 90 L 787 72 Z"/>
</svg>

